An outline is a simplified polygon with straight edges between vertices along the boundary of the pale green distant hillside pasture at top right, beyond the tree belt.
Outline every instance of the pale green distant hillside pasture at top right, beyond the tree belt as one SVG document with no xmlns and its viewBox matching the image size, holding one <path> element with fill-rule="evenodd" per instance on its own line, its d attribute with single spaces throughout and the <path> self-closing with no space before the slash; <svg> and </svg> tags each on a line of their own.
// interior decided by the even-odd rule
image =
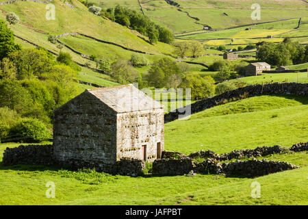
<svg viewBox="0 0 308 219">
<path fill-rule="evenodd" d="M 100 0 L 95 0 L 101 2 Z M 203 25 L 209 25 L 214 29 L 233 27 L 237 25 L 246 25 L 261 23 L 265 21 L 277 21 L 282 18 L 296 18 L 307 16 L 307 3 L 304 1 L 239 1 L 239 0 L 198 0 L 187 1 L 177 0 L 179 7 L 168 5 L 166 1 L 141 1 L 144 13 L 153 21 L 169 27 L 175 33 L 192 32 L 203 29 Z M 105 3 L 108 7 L 121 3 L 129 5 L 140 11 L 136 2 L 112 0 Z M 251 19 L 251 5 L 259 3 L 261 6 L 261 20 L 253 21 Z M 106 7 L 107 8 L 107 7 Z M 182 12 L 179 12 L 180 9 Z M 196 21 L 194 18 L 198 18 Z M 226 14 L 224 14 L 226 13 Z M 292 26 L 292 28 L 294 28 Z"/>
</svg>

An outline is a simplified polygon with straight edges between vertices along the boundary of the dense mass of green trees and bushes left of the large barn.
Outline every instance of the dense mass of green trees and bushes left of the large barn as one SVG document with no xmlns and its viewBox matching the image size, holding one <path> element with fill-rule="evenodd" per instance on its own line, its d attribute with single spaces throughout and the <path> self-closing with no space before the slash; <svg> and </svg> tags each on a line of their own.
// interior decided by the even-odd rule
<svg viewBox="0 0 308 219">
<path fill-rule="evenodd" d="M 77 95 L 74 68 L 68 53 L 22 49 L 0 21 L 0 139 L 49 138 L 53 110 Z"/>
</svg>

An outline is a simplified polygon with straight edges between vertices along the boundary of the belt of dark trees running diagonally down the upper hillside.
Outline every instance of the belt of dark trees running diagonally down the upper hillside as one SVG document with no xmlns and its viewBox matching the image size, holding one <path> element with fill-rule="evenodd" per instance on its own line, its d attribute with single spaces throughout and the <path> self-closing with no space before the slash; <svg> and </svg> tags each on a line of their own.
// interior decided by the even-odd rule
<svg viewBox="0 0 308 219">
<path fill-rule="evenodd" d="M 148 36 L 151 43 L 157 43 L 159 41 L 170 44 L 174 40 L 173 34 L 169 29 L 156 25 L 147 16 L 136 12 L 136 10 L 131 10 L 120 5 L 116 5 L 116 8 L 103 10 L 99 6 L 94 5 L 94 3 L 84 2 L 84 4 L 89 7 L 90 12 L 99 16 L 105 16 L 120 25 L 134 29 L 144 36 Z"/>
</svg>

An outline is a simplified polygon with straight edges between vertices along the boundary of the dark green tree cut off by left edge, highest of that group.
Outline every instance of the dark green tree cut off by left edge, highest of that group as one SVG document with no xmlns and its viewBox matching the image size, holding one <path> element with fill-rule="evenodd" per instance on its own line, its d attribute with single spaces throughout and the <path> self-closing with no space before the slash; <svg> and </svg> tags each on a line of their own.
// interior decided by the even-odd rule
<svg viewBox="0 0 308 219">
<path fill-rule="evenodd" d="M 14 43 L 13 31 L 3 21 L 0 21 L 0 60 L 18 50 L 21 50 L 21 46 Z"/>
</svg>

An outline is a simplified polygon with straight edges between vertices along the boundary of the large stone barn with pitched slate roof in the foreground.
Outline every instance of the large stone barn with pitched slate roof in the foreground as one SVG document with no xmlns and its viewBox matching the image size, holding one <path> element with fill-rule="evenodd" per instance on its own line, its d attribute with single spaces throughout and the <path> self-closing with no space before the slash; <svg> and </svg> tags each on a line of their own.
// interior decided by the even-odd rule
<svg viewBox="0 0 308 219">
<path fill-rule="evenodd" d="M 53 114 L 57 162 L 108 171 L 124 157 L 153 162 L 164 151 L 164 105 L 133 85 L 88 89 Z"/>
</svg>

